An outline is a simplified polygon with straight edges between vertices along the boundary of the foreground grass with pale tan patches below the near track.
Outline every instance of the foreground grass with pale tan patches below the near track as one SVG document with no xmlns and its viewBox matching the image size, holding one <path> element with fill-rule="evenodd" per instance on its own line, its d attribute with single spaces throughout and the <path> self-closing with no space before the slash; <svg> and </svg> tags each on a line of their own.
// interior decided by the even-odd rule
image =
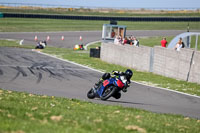
<svg viewBox="0 0 200 133">
<path fill-rule="evenodd" d="M 181 115 L 0 89 L 0 132 L 199 133 L 200 121 Z"/>
</svg>

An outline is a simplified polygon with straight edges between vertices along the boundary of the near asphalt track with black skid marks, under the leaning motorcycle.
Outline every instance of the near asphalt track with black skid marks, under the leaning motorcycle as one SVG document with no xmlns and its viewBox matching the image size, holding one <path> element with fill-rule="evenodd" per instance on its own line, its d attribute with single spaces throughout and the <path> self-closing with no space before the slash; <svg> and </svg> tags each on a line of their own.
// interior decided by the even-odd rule
<svg viewBox="0 0 200 133">
<path fill-rule="evenodd" d="M 76 35 L 78 34 L 77 37 L 80 35 L 79 33 L 76 33 Z M 84 33 L 86 35 L 86 32 Z M 88 32 L 87 34 L 91 33 L 93 32 Z M 8 33 L 8 35 L 10 34 L 13 33 Z M 19 34 L 21 35 L 22 33 L 16 33 L 15 35 L 18 36 Z M 19 38 L 14 38 L 13 36 L 10 39 Z M 60 47 L 71 46 L 73 45 L 69 43 Z M 141 108 L 157 113 L 181 114 L 200 119 L 199 97 L 135 82 L 131 83 L 128 92 L 123 93 L 119 100 L 113 98 L 108 101 L 89 100 L 86 97 L 86 93 L 101 75 L 102 73 L 98 71 L 31 50 L 0 48 L 0 88 Z"/>
</svg>

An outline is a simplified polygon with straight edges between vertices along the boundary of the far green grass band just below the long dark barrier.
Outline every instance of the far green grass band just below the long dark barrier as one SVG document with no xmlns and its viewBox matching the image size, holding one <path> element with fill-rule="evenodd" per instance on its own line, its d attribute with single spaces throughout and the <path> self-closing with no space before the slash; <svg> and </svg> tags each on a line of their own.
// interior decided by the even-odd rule
<svg viewBox="0 0 200 133">
<path fill-rule="evenodd" d="M 31 18 L 0 18 L 0 32 L 44 32 L 44 31 L 94 31 L 102 30 L 109 21 L 57 20 Z M 127 30 L 186 30 L 188 22 L 127 22 Z M 190 22 L 190 30 L 200 30 L 199 22 Z"/>
</svg>

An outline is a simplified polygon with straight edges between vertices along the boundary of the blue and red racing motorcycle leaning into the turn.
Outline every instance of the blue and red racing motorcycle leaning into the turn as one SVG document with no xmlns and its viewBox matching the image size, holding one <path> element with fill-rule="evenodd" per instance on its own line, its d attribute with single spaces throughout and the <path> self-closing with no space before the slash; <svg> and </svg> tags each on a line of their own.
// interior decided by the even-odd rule
<svg viewBox="0 0 200 133">
<path fill-rule="evenodd" d="M 87 93 L 89 99 L 100 98 L 101 100 L 107 100 L 110 97 L 119 99 L 121 97 L 120 91 L 125 86 L 120 79 L 111 77 L 107 80 L 104 80 L 99 85 L 94 86 Z"/>
</svg>

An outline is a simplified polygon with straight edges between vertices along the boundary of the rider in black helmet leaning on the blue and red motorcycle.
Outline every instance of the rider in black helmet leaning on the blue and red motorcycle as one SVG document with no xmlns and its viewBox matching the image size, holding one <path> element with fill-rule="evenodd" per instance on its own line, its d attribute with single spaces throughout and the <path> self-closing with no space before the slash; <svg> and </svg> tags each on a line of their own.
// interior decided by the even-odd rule
<svg viewBox="0 0 200 133">
<path fill-rule="evenodd" d="M 121 80 L 124 83 L 124 87 L 122 88 L 123 92 L 127 92 L 127 88 L 130 86 L 130 79 L 133 75 L 133 72 L 130 69 L 127 69 L 125 72 L 121 71 L 112 71 L 112 74 L 110 73 L 104 73 L 101 79 L 99 79 L 99 82 L 96 83 L 96 86 L 99 86 L 103 83 L 104 80 L 109 79 L 110 77 L 115 77 L 117 80 Z M 94 87 L 97 88 L 97 87 Z M 119 99 L 121 97 L 121 93 L 116 93 L 113 97 L 116 99 Z"/>
</svg>

